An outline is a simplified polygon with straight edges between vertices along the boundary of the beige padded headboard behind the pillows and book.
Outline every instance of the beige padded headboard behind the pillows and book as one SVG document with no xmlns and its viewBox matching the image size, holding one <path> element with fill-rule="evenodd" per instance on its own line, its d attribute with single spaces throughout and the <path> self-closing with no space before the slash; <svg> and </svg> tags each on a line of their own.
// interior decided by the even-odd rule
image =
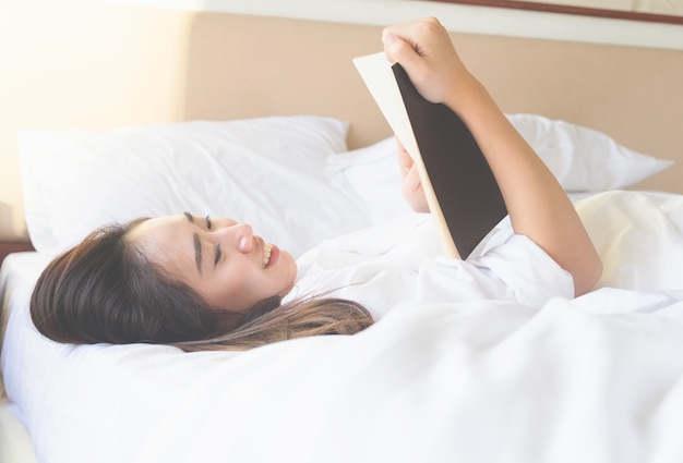
<svg viewBox="0 0 683 463">
<path fill-rule="evenodd" d="M 193 23 L 185 118 L 317 112 L 352 121 L 354 147 L 390 134 L 350 64 L 381 50 L 381 27 L 208 13 Z M 564 119 L 678 158 L 679 166 L 637 186 L 683 193 L 682 51 L 452 36 L 504 111 Z M 279 59 L 265 59 L 269 53 Z"/>
</svg>

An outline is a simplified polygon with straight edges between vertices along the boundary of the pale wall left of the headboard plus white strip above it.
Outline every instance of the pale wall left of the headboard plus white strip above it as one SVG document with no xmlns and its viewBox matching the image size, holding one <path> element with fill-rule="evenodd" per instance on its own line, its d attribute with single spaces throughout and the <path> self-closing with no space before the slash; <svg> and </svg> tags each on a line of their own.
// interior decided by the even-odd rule
<svg viewBox="0 0 683 463">
<path fill-rule="evenodd" d="M 131 14 L 123 3 L 164 8 Z M 0 0 L 0 240 L 26 239 L 17 131 L 183 119 L 185 48 L 196 11 L 373 25 L 436 15 L 463 33 L 683 50 L 681 26 L 430 1 Z"/>
</svg>

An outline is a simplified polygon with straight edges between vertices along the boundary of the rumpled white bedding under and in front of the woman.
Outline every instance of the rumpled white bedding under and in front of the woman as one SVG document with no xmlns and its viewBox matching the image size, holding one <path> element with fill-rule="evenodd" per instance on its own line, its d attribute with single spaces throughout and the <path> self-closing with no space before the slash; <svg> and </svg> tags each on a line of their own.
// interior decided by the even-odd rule
<svg viewBox="0 0 683 463">
<path fill-rule="evenodd" d="M 637 204 L 638 216 L 647 211 L 640 226 L 661 229 L 657 255 L 676 258 L 683 199 L 620 197 L 619 211 L 648 199 Z M 591 234 L 601 233 L 606 209 L 582 207 Z M 634 245 L 599 247 L 628 268 Z M 620 279 L 624 266 L 611 263 L 614 278 L 603 281 L 623 288 L 540 309 L 404 304 L 354 337 L 184 354 L 39 337 L 27 301 L 47 259 L 10 256 L 0 287 L 12 305 L 5 387 L 40 462 L 683 461 L 676 272 L 662 288 L 638 288 L 643 280 Z"/>
</svg>

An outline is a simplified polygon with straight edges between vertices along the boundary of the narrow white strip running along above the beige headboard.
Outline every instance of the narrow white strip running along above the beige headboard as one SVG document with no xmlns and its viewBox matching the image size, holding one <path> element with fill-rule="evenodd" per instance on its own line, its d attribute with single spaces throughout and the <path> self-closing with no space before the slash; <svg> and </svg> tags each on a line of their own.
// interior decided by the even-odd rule
<svg viewBox="0 0 683 463">
<path fill-rule="evenodd" d="M 683 26 L 421 0 L 99 0 L 388 25 L 430 15 L 451 31 L 683 50 Z M 564 1 L 566 3 L 566 1 Z"/>
</svg>

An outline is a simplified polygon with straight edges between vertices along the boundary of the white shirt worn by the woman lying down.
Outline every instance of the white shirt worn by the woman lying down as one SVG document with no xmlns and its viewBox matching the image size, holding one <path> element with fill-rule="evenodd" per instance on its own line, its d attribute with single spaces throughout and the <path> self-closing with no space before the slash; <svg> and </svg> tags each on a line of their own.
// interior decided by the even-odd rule
<svg viewBox="0 0 683 463">
<path fill-rule="evenodd" d="M 541 306 L 574 295 L 574 284 L 531 240 L 503 220 L 467 260 L 444 256 L 428 214 L 328 240 L 298 259 L 295 289 L 285 300 L 323 295 L 366 306 L 375 319 L 399 303 L 507 300 Z"/>
</svg>

